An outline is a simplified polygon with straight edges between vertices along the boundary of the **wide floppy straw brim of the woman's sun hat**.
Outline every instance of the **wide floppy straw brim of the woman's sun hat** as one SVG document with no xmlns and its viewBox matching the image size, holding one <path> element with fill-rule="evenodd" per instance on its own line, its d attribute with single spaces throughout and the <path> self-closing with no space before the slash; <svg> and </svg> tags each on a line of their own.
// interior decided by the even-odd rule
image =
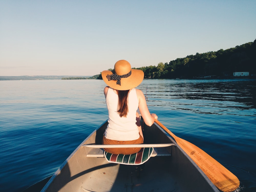
<svg viewBox="0 0 256 192">
<path fill-rule="evenodd" d="M 116 90 L 130 90 L 141 84 L 144 79 L 144 72 L 139 69 L 132 69 L 132 74 L 129 77 L 121 78 L 121 85 L 116 84 L 115 80 L 108 80 L 107 75 L 113 74 L 112 71 L 102 71 L 101 76 L 104 82 L 111 88 Z"/>
</svg>

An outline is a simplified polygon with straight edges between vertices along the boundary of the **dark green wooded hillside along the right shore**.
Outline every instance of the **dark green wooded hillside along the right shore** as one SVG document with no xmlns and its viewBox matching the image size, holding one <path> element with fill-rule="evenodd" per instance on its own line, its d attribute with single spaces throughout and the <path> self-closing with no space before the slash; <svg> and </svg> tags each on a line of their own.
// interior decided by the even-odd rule
<svg viewBox="0 0 256 192">
<path fill-rule="evenodd" d="M 196 53 L 184 58 L 177 58 L 169 63 L 158 63 L 157 66 L 139 67 L 144 72 L 144 78 L 173 79 L 197 77 L 232 77 L 233 72 L 249 72 L 256 74 L 256 39 L 254 42 L 236 46 L 230 49 L 220 49 L 207 53 Z M 109 69 L 112 70 L 112 69 Z M 102 79 L 101 74 L 93 79 Z"/>
</svg>

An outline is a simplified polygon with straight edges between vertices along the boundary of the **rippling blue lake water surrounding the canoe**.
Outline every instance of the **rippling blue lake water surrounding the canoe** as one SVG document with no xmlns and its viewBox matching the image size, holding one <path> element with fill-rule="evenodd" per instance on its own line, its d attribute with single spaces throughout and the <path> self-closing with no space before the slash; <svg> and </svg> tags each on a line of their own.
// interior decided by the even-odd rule
<svg viewBox="0 0 256 192">
<path fill-rule="evenodd" d="M 103 80 L 0 81 L 0 191 L 54 174 L 108 118 Z M 256 81 L 152 80 L 138 86 L 150 112 L 256 191 Z"/>
</svg>

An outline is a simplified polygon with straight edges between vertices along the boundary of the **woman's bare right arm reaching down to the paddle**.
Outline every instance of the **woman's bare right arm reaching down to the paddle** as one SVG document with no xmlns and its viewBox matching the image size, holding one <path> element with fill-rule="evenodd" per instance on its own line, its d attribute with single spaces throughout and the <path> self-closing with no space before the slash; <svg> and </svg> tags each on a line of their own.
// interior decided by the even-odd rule
<svg viewBox="0 0 256 192">
<path fill-rule="evenodd" d="M 139 110 L 141 112 L 141 116 L 146 125 L 151 126 L 155 122 L 155 119 L 157 119 L 157 115 L 155 113 L 150 114 L 150 112 L 148 111 L 146 99 L 143 92 L 139 89 L 136 89 L 136 93 L 139 100 Z"/>
</svg>

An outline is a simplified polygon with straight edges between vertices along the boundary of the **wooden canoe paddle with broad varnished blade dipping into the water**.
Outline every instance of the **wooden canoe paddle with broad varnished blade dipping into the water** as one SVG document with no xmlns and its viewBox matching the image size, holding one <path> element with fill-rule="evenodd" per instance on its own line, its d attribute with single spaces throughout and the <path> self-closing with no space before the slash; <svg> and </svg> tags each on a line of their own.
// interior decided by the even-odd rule
<svg viewBox="0 0 256 192">
<path fill-rule="evenodd" d="M 175 136 L 158 120 L 155 120 L 155 122 L 175 139 L 176 143 L 186 152 L 186 154 L 188 154 L 188 156 L 198 165 L 198 167 L 201 168 L 205 175 L 219 190 L 231 192 L 239 187 L 240 182 L 238 178 L 218 161 L 196 145 Z"/>
</svg>

